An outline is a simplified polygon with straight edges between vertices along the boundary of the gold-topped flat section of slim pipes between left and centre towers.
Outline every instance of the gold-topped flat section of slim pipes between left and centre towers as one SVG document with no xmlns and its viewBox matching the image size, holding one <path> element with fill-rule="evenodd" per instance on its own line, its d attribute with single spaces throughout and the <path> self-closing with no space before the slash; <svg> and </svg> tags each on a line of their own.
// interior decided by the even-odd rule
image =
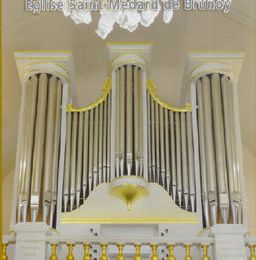
<svg viewBox="0 0 256 260">
<path fill-rule="evenodd" d="M 63 211 L 72 211 L 101 183 L 110 182 L 111 80 L 104 96 L 81 109 L 67 109 Z"/>
</svg>

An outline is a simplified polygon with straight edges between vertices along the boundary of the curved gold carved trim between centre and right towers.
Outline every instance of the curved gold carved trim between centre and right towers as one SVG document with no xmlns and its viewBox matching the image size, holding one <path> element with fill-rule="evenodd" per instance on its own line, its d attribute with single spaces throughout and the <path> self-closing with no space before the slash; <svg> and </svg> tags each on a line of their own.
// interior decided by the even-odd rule
<svg viewBox="0 0 256 260">
<path fill-rule="evenodd" d="M 192 111 L 192 105 L 190 103 L 186 103 L 185 107 L 175 107 L 171 104 L 168 104 L 164 102 L 157 94 L 156 94 L 156 86 L 152 79 L 148 80 L 147 83 L 147 90 L 151 97 L 154 99 L 155 102 L 157 102 L 160 106 L 171 110 L 173 112 L 191 112 Z"/>
</svg>

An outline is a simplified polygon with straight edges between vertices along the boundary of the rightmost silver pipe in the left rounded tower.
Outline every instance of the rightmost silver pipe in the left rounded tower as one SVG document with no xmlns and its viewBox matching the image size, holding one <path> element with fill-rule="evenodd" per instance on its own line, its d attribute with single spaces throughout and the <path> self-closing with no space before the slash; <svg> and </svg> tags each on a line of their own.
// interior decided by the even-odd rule
<svg viewBox="0 0 256 260">
<path fill-rule="evenodd" d="M 53 217 L 57 203 L 57 179 L 59 171 L 59 150 L 60 150 L 60 123 L 61 123 L 61 102 L 62 102 L 62 82 L 57 82 L 57 98 L 56 98 L 56 119 L 53 144 L 53 166 L 52 166 L 52 202 L 50 213 L 50 225 L 53 225 Z"/>
</svg>

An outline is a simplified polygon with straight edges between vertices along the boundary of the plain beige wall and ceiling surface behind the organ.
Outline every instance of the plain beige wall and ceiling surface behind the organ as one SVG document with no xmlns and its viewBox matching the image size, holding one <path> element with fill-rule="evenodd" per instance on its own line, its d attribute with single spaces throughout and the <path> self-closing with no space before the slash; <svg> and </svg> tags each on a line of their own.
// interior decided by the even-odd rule
<svg viewBox="0 0 256 260">
<path fill-rule="evenodd" d="M 179 104 L 185 55 L 189 51 L 246 52 L 239 81 L 240 117 L 244 145 L 256 156 L 256 3 L 233 1 L 229 15 L 220 12 L 174 14 L 166 25 L 159 16 L 150 28 L 128 33 L 115 27 L 106 41 L 91 25 L 75 25 L 61 13 L 32 15 L 24 12 L 23 1 L 3 1 L 3 173 L 15 164 L 16 135 L 20 105 L 20 82 L 13 53 L 19 50 L 73 51 L 78 104 L 99 95 L 107 75 L 107 41 L 150 41 L 154 44 L 152 77 L 166 101 Z"/>
</svg>

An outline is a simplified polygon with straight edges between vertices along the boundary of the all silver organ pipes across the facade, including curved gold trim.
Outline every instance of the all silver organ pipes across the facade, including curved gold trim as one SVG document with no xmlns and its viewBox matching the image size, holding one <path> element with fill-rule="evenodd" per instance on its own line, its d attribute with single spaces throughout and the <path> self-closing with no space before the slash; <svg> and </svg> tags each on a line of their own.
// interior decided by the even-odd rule
<svg viewBox="0 0 256 260">
<path fill-rule="evenodd" d="M 26 80 L 16 222 L 55 227 L 58 214 L 77 210 L 101 184 L 124 176 L 159 185 L 184 211 L 202 212 L 204 227 L 243 222 L 232 79 L 198 77 L 195 102 L 178 108 L 157 95 L 145 70 L 130 59 L 114 66 L 102 96 L 81 108 L 64 105 L 58 76 Z"/>
</svg>

